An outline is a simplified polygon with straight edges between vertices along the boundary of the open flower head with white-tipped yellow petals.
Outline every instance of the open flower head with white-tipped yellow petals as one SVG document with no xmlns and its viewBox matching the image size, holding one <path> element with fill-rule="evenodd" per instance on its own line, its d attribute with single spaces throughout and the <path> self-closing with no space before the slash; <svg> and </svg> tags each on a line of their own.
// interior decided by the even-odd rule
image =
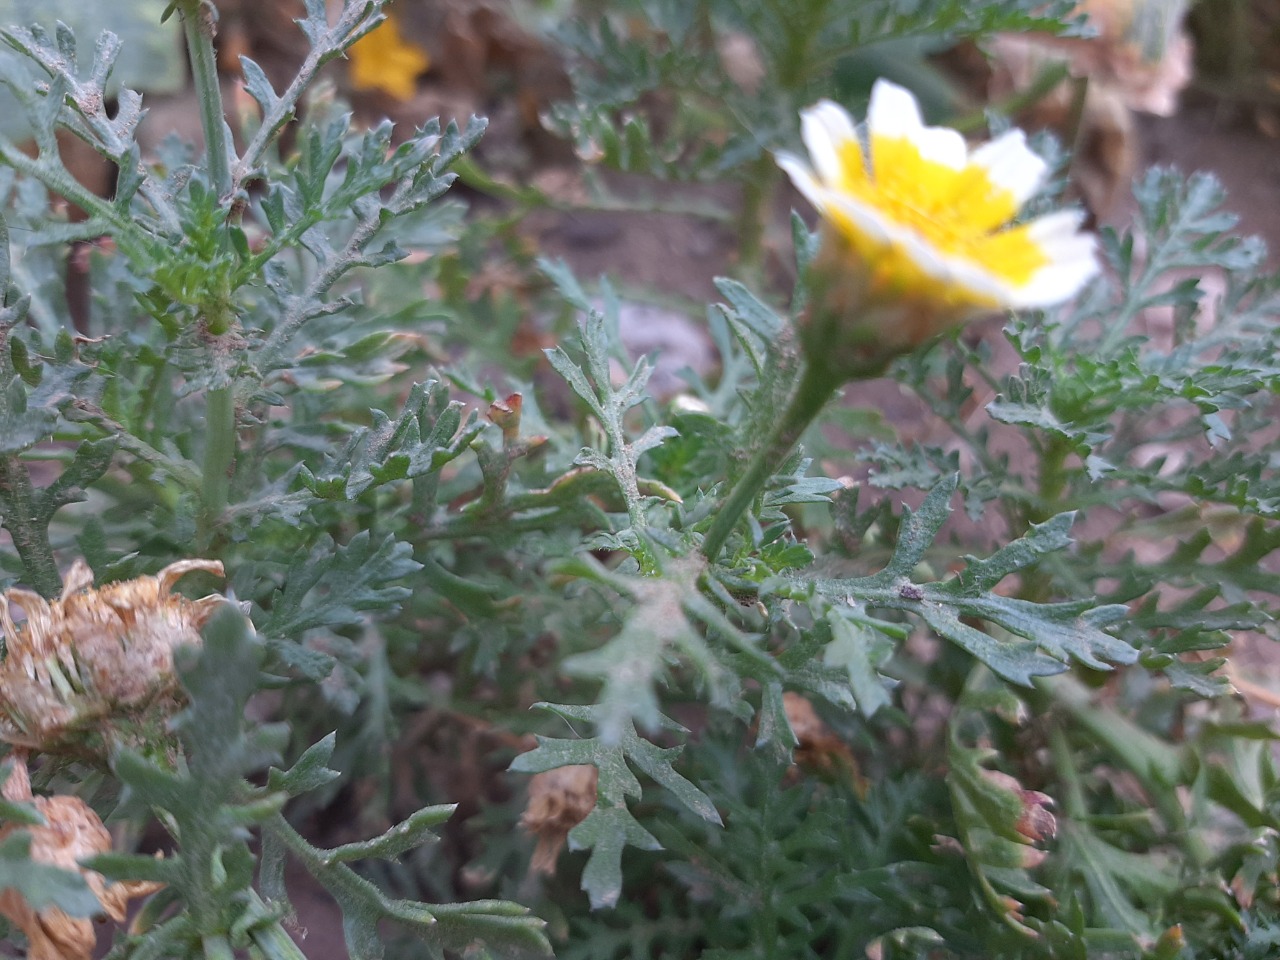
<svg viewBox="0 0 1280 960">
<path fill-rule="evenodd" d="M 975 314 L 1053 306 L 1098 270 L 1080 214 L 1010 225 L 1047 172 L 1021 131 L 970 151 L 959 132 L 925 127 L 915 97 L 882 79 L 865 148 L 852 118 L 828 100 L 804 111 L 801 134 L 810 163 L 777 160 L 827 223 L 827 247 L 838 246 L 856 264 L 858 303 L 914 305 L 902 315 L 911 342 Z"/>
</svg>

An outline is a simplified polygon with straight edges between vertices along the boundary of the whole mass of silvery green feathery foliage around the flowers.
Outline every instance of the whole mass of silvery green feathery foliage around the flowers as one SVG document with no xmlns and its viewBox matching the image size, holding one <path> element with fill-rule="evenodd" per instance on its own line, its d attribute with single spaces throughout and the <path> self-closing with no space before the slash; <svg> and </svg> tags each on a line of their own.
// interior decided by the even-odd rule
<svg viewBox="0 0 1280 960">
<path fill-rule="evenodd" d="M 447 193 L 451 165 L 476 174 L 483 120 L 356 132 L 307 93 L 381 17 L 325 10 L 300 8 L 311 52 L 285 90 L 246 61 L 261 120 L 214 157 L 142 156 L 141 99 L 106 104 L 109 35 L 77 72 L 69 29 L 5 33 L 42 76 L 10 74 L 35 156 L 0 141 L 6 581 L 52 595 L 77 554 L 104 582 L 200 556 L 248 612 L 183 660 L 165 742 L 37 769 L 170 837 L 164 860 L 95 860 L 166 884 L 111 956 L 298 956 L 289 861 L 339 902 L 356 957 L 545 952 L 531 914 L 593 959 L 1263 955 L 1274 733 L 1222 696 L 1216 652 L 1274 623 L 1280 284 L 1220 188 L 1144 177 L 1106 279 L 1009 320 L 1015 370 L 956 340 L 892 372 L 945 443 L 833 404 L 828 426 L 872 431 L 856 476 L 812 431 L 709 562 L 797 381 L 803 282 L 788 300 L 764 271 L 719 279 L 719 370 L 655 401 L 608 284 L 522 260 L 506 212 Z M 562 32 L 579 96 L 549 124 L 593 160 L 736 178 L 750 201 L 796 109 L 856 95 L 831 68 L 888 42 L 919 65 L 1064 10 L 605 13 Z M 731 36 L 754 44 L 756 92 L 727 70 Z M 646 96 L 672 93 L 655 124 Z M 59 128 L 114 165 L 110 198 L 74 182 Z M 817 238 L 792 228 L 803 276 Z M 79 328 L 70 242 L 92 282 Z M 515 292 L 477 282 L 495 251 Z M 596 768 L 596 804 L 543 881 L 525 774 L 564 764 Z M 324 817 L 333 845 L 294 826 Z M 69 873 L 17 886 L 92 909 Z"/>
</svg>

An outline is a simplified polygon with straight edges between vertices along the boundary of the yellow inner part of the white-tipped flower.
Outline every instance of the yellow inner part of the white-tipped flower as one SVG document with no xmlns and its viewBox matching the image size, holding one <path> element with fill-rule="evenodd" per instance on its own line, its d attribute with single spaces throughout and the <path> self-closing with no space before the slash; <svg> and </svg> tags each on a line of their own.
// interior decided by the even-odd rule
<svg viewBox="0 0 1280 960">
<path fill-rule="evenodd" d="M 840 143 L 840 180 L 827 187 L 910 229 L 938 253 L 974 264 L 1005 284 L 1020 287 L 1050 262 L 1027 227 L 997 229 L 1018 212 L 1018 202 L 983 166 L 947 166 L 923 156 L 906 137 L 873 134 L 870 146 L 873 170 L 867 169 L 858 141 Z M 928 275 L 909 251 L 868 234 L 838 210 L 827 215 L 879 283 L 948 303 L 996 305 L 988 293 Z"/>
</svg>

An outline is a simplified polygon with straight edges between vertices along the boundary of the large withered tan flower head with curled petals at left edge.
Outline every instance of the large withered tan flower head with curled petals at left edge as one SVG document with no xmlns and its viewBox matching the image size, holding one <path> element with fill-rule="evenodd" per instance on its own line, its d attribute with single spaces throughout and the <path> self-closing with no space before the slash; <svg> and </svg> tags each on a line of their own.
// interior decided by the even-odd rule
<svg viewBox="0 0 1280 960">
<path fill-rule="evenodd" d="M 196 570 L 223 576 L 218 561 L 189 559 L 93 589 L 92 571 L 77 561 L 56 600 L 18 588 L 0 596 L 0 739 L 56 750 L 77 730 L 172 701 L 174 650 L 198 645 L 201 627 L 223 603 L 170 593 Z M 10 604 L 27 614 L 24 622 L 14 622 Z"/>
</svg>

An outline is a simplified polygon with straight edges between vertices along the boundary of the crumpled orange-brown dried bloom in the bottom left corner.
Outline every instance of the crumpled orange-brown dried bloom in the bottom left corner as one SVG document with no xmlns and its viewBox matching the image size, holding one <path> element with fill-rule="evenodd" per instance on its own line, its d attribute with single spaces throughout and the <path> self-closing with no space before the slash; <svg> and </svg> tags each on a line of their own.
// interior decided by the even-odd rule
<svg viewBox="0 0 1280 960">
<path fill-rule="evenodd" d="M 31 835 L 31 859 L 79 873 L 104 913 L 116 923 L 124 920 L 129 900 L 160 888 L 159 883 L 145 881 L 108 883 L 102 874 L 81 867 L 79 860 L 111 850 L 111 835 L 93 809 L 78 796 L 32 797 L 26 763 L 13 764 L 4 796 L 31 803 L 45 823 L 8 826 L 0 829 L 0 840 L 14 831 L 27 831 Z M 36 910 L 12 888 L 0 891 L 0 915 L 27 936 L 29 960 L 88 960 L 93 956 L 97 933 L 90 916 L 70 916 L 56 906 Z"/>
</svg>

